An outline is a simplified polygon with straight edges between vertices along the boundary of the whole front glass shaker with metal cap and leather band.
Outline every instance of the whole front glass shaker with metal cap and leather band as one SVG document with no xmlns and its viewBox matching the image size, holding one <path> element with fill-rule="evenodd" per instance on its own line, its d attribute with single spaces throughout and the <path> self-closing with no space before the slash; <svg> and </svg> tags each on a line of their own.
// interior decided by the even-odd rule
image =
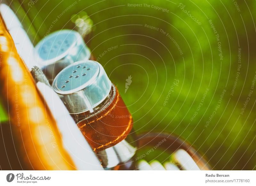
<svg viewBox="0 0 256 186">
<path fill-rule="evenodd" d="M 137 149 L 132 115 L 100 63 L 69 65 L 55 77 L 52 88 L 106 169 L 132 166 Z"/>
</svg>

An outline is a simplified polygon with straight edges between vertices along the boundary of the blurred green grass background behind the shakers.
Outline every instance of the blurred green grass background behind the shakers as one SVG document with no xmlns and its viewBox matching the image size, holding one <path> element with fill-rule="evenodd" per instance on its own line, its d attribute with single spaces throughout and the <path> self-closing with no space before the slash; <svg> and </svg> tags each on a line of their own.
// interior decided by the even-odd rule
<svg viewBox="0 0 256 186">
<path fill-rule="evenodd" d="M 51 32 L 73 29 L 71 16 L 87 12 L 95 25 L 87 44 L 117 85 L 133 115 L 136 132 L 176 134 L 198 149 L 214 169 L 255 169 L 256 90 L 244 114 L 240 114 L 256 71 L 255 1 L 236 0 L 240 12 L 233 1 L 213 0 L 63 0 L 36 1 L 31 6 L 29 2 L 12 1 L 11 7 L 17 10 L 20 19 L 24 18 L 22 23 L 34 44 L 44 37 L 58 16 Z M 179 7 L 180 3 L 185 5 L 184 9 Z M 156 10 L 152 5 L 166 8 L 168 12 Z M 202 24 L 197 24 L 182 10 L 190 11 Z M 222 60 L 210 19 L 219 34 Z M 159 29 L 147 28 L 145 24 Z M 177 42 L 182 55 L 167 33 Z M 108 51 L 112 46 L 117 48 Z M 241 48 L 241 68 L 232 96 L 238 48 Z M 107 53 L 100 57 L 104 51 Z M 124 93 L 130 75 L 132 83 Z M 178 79 L 179 84 L 174 86 L 164 106 L 174 79 Z M 209 91 L 197 111 L 206 89 Z M 220 107 L 205 127 L 224 89 L 226 93 Z M 197 115 L 191 121 L 195 112 Z"/>
</svg>

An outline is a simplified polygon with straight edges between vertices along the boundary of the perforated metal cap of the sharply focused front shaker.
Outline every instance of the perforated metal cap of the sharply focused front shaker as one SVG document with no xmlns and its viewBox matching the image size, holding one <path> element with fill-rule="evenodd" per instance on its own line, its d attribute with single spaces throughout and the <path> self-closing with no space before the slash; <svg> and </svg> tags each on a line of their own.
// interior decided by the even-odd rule
<svg viewBox="0 0 256 186">
<path fill-rule="evenodd" d="M 69 65 L 52 83 L 53 90 L 60 95 L 70 114 L 92 112 L 108 97 L 111 86 L 102 65 L 91 60 Z"/>
</svg>

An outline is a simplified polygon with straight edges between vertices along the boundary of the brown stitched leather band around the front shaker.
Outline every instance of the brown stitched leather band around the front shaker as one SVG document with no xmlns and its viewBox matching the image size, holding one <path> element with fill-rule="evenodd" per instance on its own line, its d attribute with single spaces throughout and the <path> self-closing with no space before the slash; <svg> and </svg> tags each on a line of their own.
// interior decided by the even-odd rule
<svg viewBox="0 0 256 186">
<path fill-rule="evenodd" d="M 96 153 L 116 145 L 132 130 L 132 115 L 117 88 L 113 91 L 106 107 L 77 123 Z"/>
</svg>

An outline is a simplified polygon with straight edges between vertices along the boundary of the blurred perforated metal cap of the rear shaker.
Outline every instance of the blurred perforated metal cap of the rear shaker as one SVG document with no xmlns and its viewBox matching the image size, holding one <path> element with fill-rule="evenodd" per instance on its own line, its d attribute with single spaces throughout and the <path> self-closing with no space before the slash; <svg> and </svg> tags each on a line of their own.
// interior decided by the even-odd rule
<svg viewBox="0 0 256 186">
<path fill-rule="evenodd" d="M 51 82 L 68 65 L 90 58 L 91 51 L 81 35 L 60 30 L 47 35 L 35 47 L 35 59 Z"/>
</svg>

